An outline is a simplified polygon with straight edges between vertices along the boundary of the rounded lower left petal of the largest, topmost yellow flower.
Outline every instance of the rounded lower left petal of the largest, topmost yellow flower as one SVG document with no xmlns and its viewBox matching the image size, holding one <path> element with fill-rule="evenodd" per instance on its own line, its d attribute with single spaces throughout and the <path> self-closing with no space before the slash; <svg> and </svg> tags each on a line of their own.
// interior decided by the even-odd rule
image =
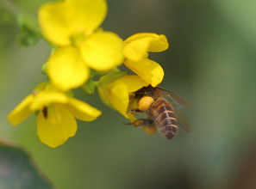
<svg viewBox="0 0 256 189">
<path fill-rule="evenodd" d="M 84 64 L 76 48 L 59 48 L 47 63 L 47 73 L 51 82 L 61 90 L 78 88 L 89 77 L 89 69 Z"/>
</svg>

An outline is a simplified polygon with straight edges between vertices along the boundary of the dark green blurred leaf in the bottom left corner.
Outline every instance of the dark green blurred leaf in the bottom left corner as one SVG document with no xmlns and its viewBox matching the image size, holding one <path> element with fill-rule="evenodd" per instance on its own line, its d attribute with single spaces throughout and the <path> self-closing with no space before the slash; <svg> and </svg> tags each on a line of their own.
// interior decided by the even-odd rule
<svg viewBox="0 0 256 189">
<path fill-rule="evenodd" d="M 52 189 L 23 149 L 0 142 L 1 189 Z"/>
</svg>

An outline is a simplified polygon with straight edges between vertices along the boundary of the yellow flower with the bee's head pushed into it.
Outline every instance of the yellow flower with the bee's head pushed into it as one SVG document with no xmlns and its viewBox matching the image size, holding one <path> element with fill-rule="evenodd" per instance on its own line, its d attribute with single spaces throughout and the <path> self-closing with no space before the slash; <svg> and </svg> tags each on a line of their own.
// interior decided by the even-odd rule
<svg viewBox="0 0 256 189">
<path fill-rule="evenodd" d="M 137 106 L 134 92 L 148 86 L 148 83 L 143 81 L 140 76 L 121 76 L 113 82 L 105 83 L 104 80 L 108 79 L 106 76 L 100 79 L 97 89 L 101 99 L 127 119 L 134 120 L 134 116 L 128 113 L 129 109 L 134 109 Z"/>
</svg>

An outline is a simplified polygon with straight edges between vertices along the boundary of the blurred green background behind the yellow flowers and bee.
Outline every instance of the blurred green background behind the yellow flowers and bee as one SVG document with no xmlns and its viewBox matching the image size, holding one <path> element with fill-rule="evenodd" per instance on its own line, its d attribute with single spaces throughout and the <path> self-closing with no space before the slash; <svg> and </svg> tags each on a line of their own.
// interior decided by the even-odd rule
<svg viewBox="0 0 256 189">
<path fill-rule="evenodd" d="M 3 0 L 1 0 L 3 1 Z M 13 0 L 36 15 L 47 1 Z M 191 132 L 171 142 L 122 125 L 127 121 L 97 96 L 78 98 L 103 110 L 57 149 L 36 137 L 35 119 L 6 120 L 29 94 L 50 53 L 41 41 L 19 46 L 18 28 L 0 5 L 0 137 L 22 145 L 57 189 L 256 188 L 256 1 L 109 0 L 106 30 L 123 39 L 139 32 L 165 34 L 170 49 L 151 57 L 165 69 L 161 87 L 189 100 Z"/>
</svg>

